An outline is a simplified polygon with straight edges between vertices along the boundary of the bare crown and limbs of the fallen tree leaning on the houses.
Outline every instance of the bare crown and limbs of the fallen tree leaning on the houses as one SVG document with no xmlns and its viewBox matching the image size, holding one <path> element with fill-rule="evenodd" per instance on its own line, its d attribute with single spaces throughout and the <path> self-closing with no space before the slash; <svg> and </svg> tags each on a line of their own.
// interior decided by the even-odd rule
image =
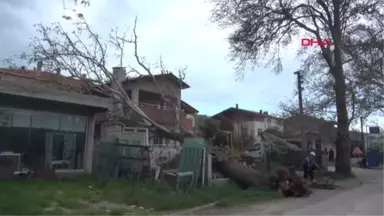
<svg viewBox="0 0 384 216">
<path fill-rule="evenodd" d="M 81 3 L 84 4 L 83 2 L 85 1 Z M 162 80 L 159 80 L 161 76 L 158 75 L 173 73 L 161 59 L 156 64 L 149 64 L 139 54 L 137 20 L 132 29 L 132 38 L 127 36 L 127 32 L 115 28 L 111 29 L 111 33 L 104 39 L 91 28 L 82 13 L 77 13 L 75 10 L 73 13 L 72 16 L 63 16 L 70 24 L 67 27 L 59 22 L 35 25 L 37 36 L 31 40 L 31 52 L 17 55 L 16 58 L 26 60 L 29 64 L 38 62 L 47 72 L 66 74 L 81 81 L 79 85 L 72 85 L 62 79 L 59 84 L 67 91 L 111 98 L 114 107 L 108 112 L 106 121 L 108 124 L 121 125 L 132 120 L 139 126 L 149 128 L 155 134 L 178 141 L 190 135 L 180 122 L 182 110 L 179 101 L 175 99 L 177 96 L 172 91 L 172 86 L 165 85 L 164 82 L 160 82 Z M 131 50 L 128 50 L 129 48 Z M 126 63 L 127 51 L 133 53 L 132 59 L 137 66 Z M 110 69 L 108 62 L 111 60 L 108 58 L 110 55 L 118 57 L 119 64 L 115 68 L 120 68 L 120 73 L 124 71 L 123 76 L 115 74 Z M 6 59 L 4 63 L 10 68 L 17 67 L 12 62 L 12 58 Z M 175 71 L 180 85 L 185 78 L 185 70 L 186 67 Z M 132 96 L 128 95 L 122 83 L 140 77 L 150 78 L 160 94 L 163 105 L 172 110 L 175 118 L 174 125 L 166 127 L 159 124 L 139 107 L 138 102 L 131 98 Z"/>
</svg>

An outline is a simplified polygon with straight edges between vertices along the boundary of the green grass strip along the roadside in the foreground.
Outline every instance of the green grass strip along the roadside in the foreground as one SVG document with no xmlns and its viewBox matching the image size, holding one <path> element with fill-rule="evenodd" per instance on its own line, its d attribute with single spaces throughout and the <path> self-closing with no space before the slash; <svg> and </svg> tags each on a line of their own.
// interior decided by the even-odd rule
<svg viewBox="0 0 384 216">
<path fill-rule="evenodd" d="M 174 191 L 154 182 L 89 178 L 2 181 L 0 191 L 1 216 L 147 215 L 148 209 L 170 211 L 211 202 L 230 206 L 280 196 L 268 189 L 241 190 L 233 184 Z"/>
</svg>

